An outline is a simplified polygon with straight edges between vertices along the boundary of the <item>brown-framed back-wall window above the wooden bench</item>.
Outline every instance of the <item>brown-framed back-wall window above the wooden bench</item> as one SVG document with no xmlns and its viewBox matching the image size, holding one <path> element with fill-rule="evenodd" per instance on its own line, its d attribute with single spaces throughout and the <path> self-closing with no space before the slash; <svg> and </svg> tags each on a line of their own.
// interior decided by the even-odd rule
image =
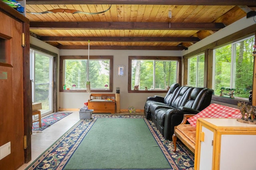
<svg viewBox="0 0 256 170">
<path fill-rule="evenodd" d="M 89 74 L 87 63 L 87 56 L 60 57 L 60 91 L 86 92 L 86 81 L 89 76 L 91 92 L 112 92 L 113 57 L 90 56 Z"/>
</svg>

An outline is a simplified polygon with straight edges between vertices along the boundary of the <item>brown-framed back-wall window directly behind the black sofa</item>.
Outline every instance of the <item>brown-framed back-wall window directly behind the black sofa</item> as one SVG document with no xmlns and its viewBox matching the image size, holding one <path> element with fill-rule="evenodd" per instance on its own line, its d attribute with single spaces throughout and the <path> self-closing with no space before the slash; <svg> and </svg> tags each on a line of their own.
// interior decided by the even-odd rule
<svg viewBox="0 0 256 170">
<path fill-rule="evenodd" d="M 128 91 L 162 90 L 166 92 L 167 86 L 177 82 L 178 59 L 129 56 Z"/>
</svg>

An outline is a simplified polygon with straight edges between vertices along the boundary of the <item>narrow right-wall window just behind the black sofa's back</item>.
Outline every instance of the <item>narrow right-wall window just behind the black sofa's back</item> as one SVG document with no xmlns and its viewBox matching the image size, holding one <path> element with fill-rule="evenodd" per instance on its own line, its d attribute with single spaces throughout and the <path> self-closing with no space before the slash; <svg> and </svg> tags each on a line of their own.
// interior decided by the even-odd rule
<svg viewBox="0 0 256 170">
<path fill-rule="evenodd" d="M 204 87 L 204 54 L 188 59 L 188 86 Z"/>
</svg>

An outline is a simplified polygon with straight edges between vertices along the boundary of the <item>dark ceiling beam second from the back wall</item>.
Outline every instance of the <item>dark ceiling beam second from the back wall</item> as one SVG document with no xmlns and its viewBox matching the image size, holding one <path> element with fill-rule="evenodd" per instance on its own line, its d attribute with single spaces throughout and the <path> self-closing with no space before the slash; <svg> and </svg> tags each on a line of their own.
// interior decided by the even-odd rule
<svg viewBox="0 0 256 170">
<path fill-rule="evenodd" d="M 200 41 L 198 37 L 40 37 L 42 41 L 115 41 L 115 42 L 192 42 Z"/>
</svg>

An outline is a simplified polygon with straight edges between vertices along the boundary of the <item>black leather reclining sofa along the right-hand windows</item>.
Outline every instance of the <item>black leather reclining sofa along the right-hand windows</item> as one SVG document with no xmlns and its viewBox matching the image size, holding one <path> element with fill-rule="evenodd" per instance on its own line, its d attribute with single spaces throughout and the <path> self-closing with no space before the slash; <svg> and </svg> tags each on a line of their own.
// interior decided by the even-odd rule
<svg viewBox="0 0 256 170">
<path fill-rule="evenodd" d="M 151 119 L 165 139 L 172 140 L 174 126 L 184 114 L 196 114 L 210 105 L 213 90 L 172 84 L 165 97 L 148 97 L 144 106 L 146 119 Z"/>
</svg>

